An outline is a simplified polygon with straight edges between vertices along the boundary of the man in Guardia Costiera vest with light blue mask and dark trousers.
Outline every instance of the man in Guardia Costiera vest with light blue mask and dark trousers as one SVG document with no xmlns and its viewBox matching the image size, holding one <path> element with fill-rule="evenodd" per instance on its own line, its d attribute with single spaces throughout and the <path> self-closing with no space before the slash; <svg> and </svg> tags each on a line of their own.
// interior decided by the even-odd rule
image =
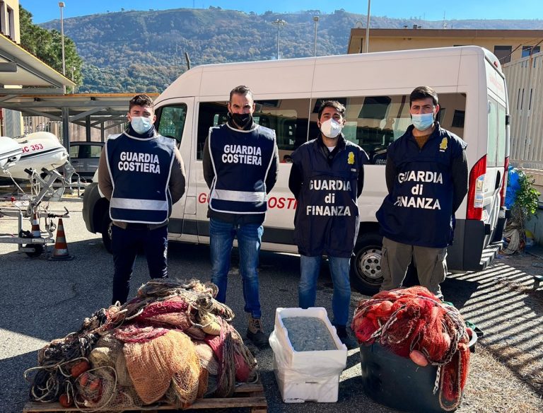
<svg viewBox="0 0 543 413">
<path fill-rule="evenodd" d="M 140 248 L 151 278 L 168 277 L 168 217 L 185 192 L 181 154 L 174 139 L 156 132 L 153 100 L 134 96 L 127 117 L 127 129 L 107 139 L 98 165 L 98 187 L 113 221 L 113 304 L 127 301 Z"/>
</svg>

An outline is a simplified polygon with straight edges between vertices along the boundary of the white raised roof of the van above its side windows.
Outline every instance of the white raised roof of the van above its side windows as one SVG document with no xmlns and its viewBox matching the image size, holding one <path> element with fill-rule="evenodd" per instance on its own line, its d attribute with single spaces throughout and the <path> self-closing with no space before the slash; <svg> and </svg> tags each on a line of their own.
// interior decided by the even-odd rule
<svg viewBox="0 0 543 413">
<path fill-rule="evenodd" d="M 228 100 L 230 90 L 245 84 L 255 100 L 296 98 L 311 92 L 318 97 L 372 89 L 405 93 L 427 84 L 454 87 L 459 82 L 460 57 L 498 59 L 479 46 L 439 47 L 363 54 L 342 54 L 258 62 L 206 64 L 182 74 L 161 93 L 156 103 L 195 96 L 200 100 Z M 501 71 L 501 67 L 497 68 Z"/>
</svg>

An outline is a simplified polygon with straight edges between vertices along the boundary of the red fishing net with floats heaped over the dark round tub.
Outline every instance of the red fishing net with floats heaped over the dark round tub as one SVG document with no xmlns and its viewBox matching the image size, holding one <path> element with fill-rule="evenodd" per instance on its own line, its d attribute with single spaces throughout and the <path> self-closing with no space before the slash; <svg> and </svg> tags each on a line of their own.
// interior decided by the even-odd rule
<svg viewBox="0 0 543 413">
<path fill-rule="evenodd" d="M 437 366 L 440 406 L 460 405 L 469 366 L 469 336 L 457 308 L 441 303 L 426 288 L 381 291 L 361 301 L 352 330 L 358 342 L 375 343 L 419 366 Z"/>
</svg>

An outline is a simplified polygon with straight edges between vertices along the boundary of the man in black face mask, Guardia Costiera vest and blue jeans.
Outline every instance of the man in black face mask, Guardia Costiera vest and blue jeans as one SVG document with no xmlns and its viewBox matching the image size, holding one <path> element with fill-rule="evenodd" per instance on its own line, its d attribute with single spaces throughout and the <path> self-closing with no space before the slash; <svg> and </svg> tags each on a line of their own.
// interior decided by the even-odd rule
<svg viewBox="0 0 543 413">
<path fill-rule="evenodd" d="M 209 239 L 211 281 L 218 286 L 217 300 L 226 302 L 230 252 L 238 238 L 247 338 L 257 347 L 267 344 L 259 301 L 258 255 L 267 194 L 274 187 L 279 156 L 272 129 L 252 119 L 255 101 L 247 86 L 230 91 L 228 122 L 209 129 L 204 144 L 204 179 L 210 189 Z"/>
</svg>

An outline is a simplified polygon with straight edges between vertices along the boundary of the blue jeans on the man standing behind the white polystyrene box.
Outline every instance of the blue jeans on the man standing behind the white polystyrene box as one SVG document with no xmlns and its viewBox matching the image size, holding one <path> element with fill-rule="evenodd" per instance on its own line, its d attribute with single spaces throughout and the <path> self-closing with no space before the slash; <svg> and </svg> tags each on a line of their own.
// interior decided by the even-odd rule
<svg viewBox="0 0 543 413">
<path fill-rule="evenodd" d="M 301 277 L 298 285 L 298 304 L 301 308 L 315 307 L 317 298 L 317 279 L 320 272 L 320 255 L 308 257 L 300 255 Z M 349 281 L 350 258 L 328 257 L 330 274 L 334 283 L 332 313 L 334 325 L 347 325 L 351 305 L 351 283 Z"/>
</svg>

